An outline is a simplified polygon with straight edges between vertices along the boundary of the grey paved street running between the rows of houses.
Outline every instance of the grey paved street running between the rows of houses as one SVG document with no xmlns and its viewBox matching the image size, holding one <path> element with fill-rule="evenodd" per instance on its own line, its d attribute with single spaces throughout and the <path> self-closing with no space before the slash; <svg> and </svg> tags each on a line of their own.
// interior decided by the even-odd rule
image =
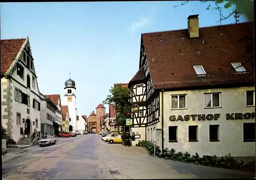
<svg viewBox="0 0 256 180">
<path fill-rule="evenodd" d="M 252 178 L 254 173 L 154 158 L 141 147 L 101 142 L 99 134 L 32 146 L 3 164 L 3 179 Z"/>
</svg>

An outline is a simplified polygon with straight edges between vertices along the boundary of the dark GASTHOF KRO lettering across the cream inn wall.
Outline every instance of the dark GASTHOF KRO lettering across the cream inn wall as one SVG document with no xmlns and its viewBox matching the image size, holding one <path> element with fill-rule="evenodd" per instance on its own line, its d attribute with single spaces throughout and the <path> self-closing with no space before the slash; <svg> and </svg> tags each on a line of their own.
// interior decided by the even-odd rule
<svg viewBox="0 0 256 180">
<path fill-rule="evenodd" d="M 201 114 L 201 115 L 172 115 L 169 117 L 170 121 L 205 121 L 205 120 L 218 120 L 221 114 Z M 253 119 L 255 118 L 255 113 L 227 113 L 226 120 L 242 120 L 242 119 Z"/>
</svg>

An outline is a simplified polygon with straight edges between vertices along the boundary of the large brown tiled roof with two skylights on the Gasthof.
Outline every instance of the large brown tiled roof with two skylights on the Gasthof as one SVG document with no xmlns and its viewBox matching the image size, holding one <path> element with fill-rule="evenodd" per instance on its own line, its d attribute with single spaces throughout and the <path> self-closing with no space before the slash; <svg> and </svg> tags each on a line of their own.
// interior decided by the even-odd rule
<svg viewBox="0 0 256 180">
<path fill-rule="evenodd" d="M 185 22 L 184 22 L 185 23 Z M 155 89 L 253 83 L 253 23 L 199 28 L 190 38 L 187 29 L 141 35 Z M 249 45 L 251 44 L 251 46 Z M 237 74 L 232 62 L 247 73 Z M 193 66 L 202 65 L 207 76 L 198 77 Z"/>
</svg>

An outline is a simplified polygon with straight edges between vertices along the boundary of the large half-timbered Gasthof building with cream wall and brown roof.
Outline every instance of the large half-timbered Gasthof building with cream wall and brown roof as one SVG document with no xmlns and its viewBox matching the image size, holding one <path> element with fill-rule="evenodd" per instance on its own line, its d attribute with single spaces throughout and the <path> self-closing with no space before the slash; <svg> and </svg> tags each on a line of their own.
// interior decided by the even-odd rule
<svg viewBox="0 0 256 180">
<path fill-rule="evenodd" d="M 187 29 L 141 35 L 129 82 L 133 145 L 255 156 L 253 24 L 199 28 L 198 15 L 187 19 Z"/>
</svg>

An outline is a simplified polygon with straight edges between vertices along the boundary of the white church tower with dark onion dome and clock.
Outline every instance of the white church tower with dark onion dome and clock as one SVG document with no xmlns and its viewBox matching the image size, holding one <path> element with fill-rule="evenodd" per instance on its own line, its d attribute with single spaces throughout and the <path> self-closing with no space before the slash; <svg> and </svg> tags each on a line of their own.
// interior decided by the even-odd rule
<svg viewBox="0 0 256 180">
<path fill-rule="evenodd" d="M 70 129 L 69 131 L 75 131 L 76 130 L 76 83 L 72 79 L 69 78 L 65 82 L 65 101 L 66 104 L 69 107 L 69 117 L 70 117 Z M 72 129 L 71 129 L 72 126 Z"/>
</svg>

